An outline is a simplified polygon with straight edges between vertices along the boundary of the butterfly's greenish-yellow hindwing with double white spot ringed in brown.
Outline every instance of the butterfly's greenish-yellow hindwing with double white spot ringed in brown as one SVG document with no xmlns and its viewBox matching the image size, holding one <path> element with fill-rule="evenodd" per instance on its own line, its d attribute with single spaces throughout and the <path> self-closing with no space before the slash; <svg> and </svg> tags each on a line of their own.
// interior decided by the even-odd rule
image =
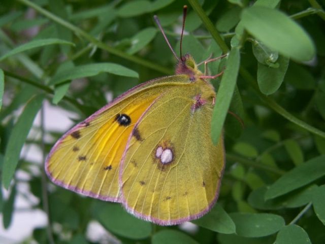
<svg viewBox="0 0 325 244">
<path fill-rule="evenodd" d="M 179 224 L 203 216 L 218 197 L 223 139 L 212 143 L 212 104 L 198 105 L 193 98 L 199 93 L 194 85 L 174 87 L 141 116 L 128 139 L 121 200 L 139 218 Z"/>
</svg>

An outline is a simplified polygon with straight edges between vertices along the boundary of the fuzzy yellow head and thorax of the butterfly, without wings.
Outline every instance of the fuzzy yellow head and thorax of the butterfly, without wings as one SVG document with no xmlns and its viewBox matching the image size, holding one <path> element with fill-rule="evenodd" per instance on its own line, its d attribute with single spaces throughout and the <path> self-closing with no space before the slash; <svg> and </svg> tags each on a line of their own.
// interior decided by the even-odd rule
<svg viewBox="0 0 325 244">
<path fill-rule="evenodd" d="M 176 68 L 176 74 L 188 75 L 191 83 L 198 87 L 198 92 L 194 96 L 193 109 L 197 109 L 205 104 L 214 105 L 216 97 L 213 85 L 209 80 L 202 78 L 204 74 L 199 70 L 190 54 L 185 54 L 180 60 Z"/>
</svg>

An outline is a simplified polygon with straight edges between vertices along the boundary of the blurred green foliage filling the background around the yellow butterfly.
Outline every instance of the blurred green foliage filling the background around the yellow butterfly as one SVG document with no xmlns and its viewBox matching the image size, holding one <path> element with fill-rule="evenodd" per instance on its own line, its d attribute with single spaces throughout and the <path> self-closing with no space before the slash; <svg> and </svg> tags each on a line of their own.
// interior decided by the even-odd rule
<svg viewBox="0 0 325 244">
<path fill-rule="evenodd" d="M 197 63 L 233 53 L 209 64 L 211 74 L 226 69 L 212 80 L 220 87 L 212 135 L 217 140 L 224 128 L 226 169 L 218 203 L 195 228 L 156 226 L 119 204 L 54 187 L 43 165 L 18 157 L 23 143 L 46 155 L 62 134 L 31 126 L 42 100 L 82 120 L 107 103 L 107 93 L 116 97 L 173 74 L 175 58 L 153 15 L 178 53 L 185 4 L 184 52 Z M 324 7 L 323 0 L 2 0 L 0 168 L 10 190 L 6 198 L 0 191 L 4 228 L 28 185 L 40 200 L 31 208 L 43 209 L 49 225 L 26 243 L 324 243 Z M 27 136 L 31 129 L 40 136 Z M 90 238 L 92 221 L 108 234 Z"/>
</svg>

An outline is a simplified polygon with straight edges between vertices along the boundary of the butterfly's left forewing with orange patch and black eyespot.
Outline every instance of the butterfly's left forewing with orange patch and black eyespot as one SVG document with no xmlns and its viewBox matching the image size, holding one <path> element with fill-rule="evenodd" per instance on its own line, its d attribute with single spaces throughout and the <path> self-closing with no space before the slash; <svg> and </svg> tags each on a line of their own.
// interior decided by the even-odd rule
<svg viewBox="0 0 325 244">
<path fill-rule="evenodd" d="M 49 178 L 90 197 L 120 201 L 118 172 L 127 139 L 154 101 L 180 84 L 173 77 L 179 75 L 136 86 L 64 134 L 47 157 Z"/>
</svg>

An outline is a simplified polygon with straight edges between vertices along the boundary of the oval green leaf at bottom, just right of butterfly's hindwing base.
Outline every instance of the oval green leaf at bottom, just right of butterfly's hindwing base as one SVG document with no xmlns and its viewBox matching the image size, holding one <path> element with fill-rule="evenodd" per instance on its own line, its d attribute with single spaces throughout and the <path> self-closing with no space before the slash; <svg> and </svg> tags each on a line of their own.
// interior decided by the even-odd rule
<svg viewBox="0 0 325 244">
<path fill-rule="evenodd" d="M 230 214 L 236 225 L 236 233 L 245 237 L 262 237 L 278 232 L 284 226 L 281 216 L 273 214 Z"/>
</svg>

